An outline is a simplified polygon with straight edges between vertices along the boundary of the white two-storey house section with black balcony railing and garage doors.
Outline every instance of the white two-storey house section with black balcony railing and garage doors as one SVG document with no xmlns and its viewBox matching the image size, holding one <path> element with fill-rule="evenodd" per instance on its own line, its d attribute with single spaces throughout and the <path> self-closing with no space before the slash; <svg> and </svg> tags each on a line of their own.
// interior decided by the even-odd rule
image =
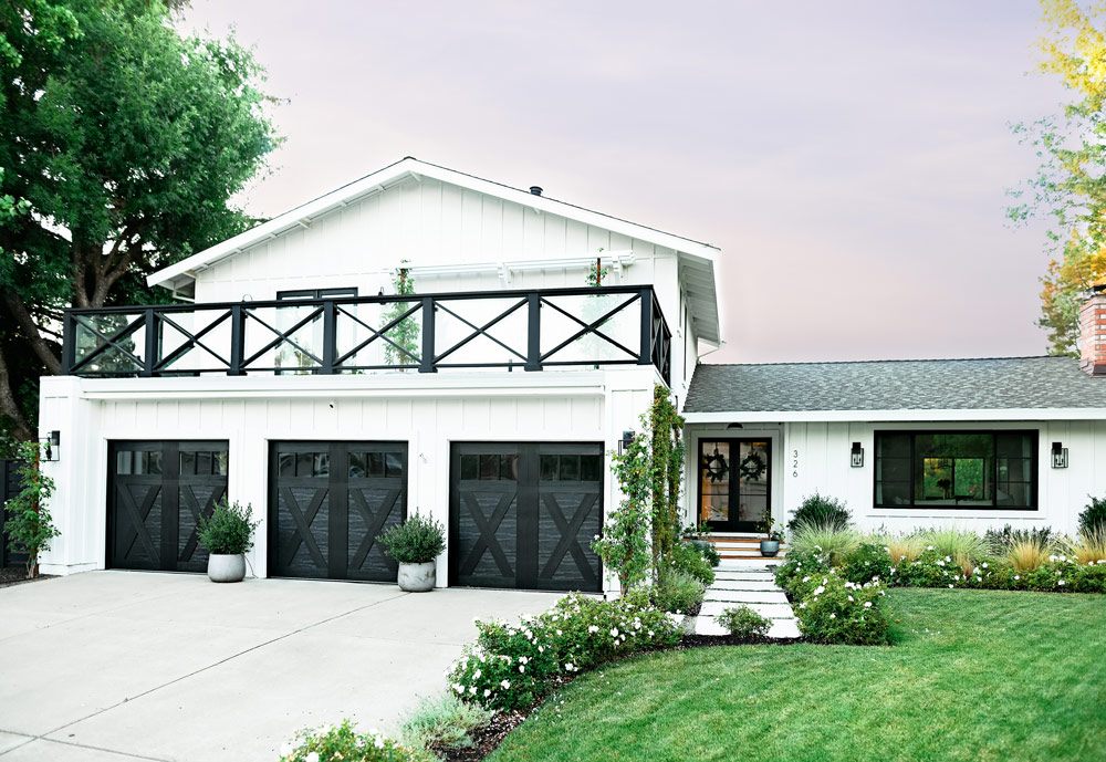
<svg viewBox="0 0 1106 762">
<path fill-rule="evenodd" d="M 374 539 L 418 510 L 439 584 L 599 589 L 604 453 L 719 341 L 717 257 L 405 158 L 150 276 L 190 303 L 71 310 L 44 571 L 202 571 L 229 497 L 261 576 L 394 580 Z"/>
</svg>

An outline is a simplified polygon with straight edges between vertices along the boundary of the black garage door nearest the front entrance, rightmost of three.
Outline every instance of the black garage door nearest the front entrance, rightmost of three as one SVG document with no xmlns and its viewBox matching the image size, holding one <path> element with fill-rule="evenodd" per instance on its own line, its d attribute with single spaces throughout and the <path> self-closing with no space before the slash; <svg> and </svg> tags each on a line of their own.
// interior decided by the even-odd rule
<svg viewBox="0 0 1106 762">
<path fill-rule="evenodd" d="M 601 445 L 453 445 L 449 503 L 450 584 L 599 589 Z"/>
</svg>

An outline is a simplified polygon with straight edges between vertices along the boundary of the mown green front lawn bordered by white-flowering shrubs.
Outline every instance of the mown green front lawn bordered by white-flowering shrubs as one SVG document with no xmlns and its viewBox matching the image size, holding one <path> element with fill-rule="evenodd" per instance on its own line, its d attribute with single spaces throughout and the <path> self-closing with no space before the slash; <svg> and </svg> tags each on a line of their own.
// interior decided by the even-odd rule
<svg viewBox="0 0 1106 762">
<path fill-rule="evenodd" d="M 1106 760 L 1106 597 L 888 598 L 893 646 L 632 659 L 551 698 L 489 762 Z"/>
</svg>

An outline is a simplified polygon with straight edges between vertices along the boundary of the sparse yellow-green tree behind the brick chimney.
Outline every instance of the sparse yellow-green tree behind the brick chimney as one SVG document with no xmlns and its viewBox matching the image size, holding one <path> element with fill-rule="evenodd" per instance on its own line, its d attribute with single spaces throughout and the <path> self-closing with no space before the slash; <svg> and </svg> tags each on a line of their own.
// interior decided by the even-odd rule
<svg viewBox="0 0 1106 762">
<path fill-rule="evenodd" d="M 1106 281 L 1106 2 L 1041 0 L 1045 34 L 1041 70 L 1071 93 L 1061 115 L 1016 125 L 1041 167 L 1010 216 L 1051 217 L 1041 319 L 1051 352 L 1077 354 L 1081 294 Z M 1015 196 L 1022 196 L 1018 191 Z"/>
</svg>

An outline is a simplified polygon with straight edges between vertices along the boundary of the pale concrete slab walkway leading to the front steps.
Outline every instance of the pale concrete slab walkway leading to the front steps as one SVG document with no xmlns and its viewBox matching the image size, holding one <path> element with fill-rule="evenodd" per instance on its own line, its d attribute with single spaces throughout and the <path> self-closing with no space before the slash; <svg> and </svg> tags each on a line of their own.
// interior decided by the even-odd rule
<svg viewBox="0 0 1106 762">
<path fill-rule="evenodd" d="M 697 635 L 729 635 L 717 616 L 731 606 L 749 606 L 772 620 L 771 638 L 797 638 L 799 622 L 787 603 L 787 596 L 775 584 L 772 572 L 764 565 L 728 564 L 714 570 L 714 584 L 703 595 L 702 609 L 696 617 Z"/>
</svg>

